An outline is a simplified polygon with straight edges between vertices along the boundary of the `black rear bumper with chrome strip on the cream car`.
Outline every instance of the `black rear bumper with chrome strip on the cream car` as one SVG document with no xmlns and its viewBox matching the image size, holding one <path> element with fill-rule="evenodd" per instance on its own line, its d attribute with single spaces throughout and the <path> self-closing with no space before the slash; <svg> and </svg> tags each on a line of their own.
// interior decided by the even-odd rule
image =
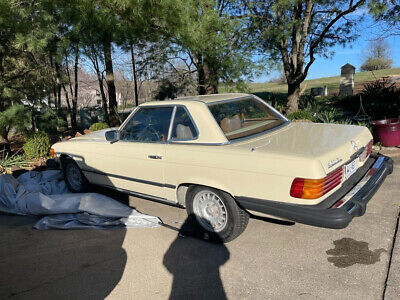
<svg viewBox="0 0 400 300">
<path fill-rule="evenodd" d="M 235 197 L 246 210 L 286 218 L 312 226 L 341 229 L 353 219 L 364 215 L 368 201 L 379 189 L 386 176 L 393 171 L 393 160 L 386 156 L 371 155 L 363 168 L 353 174 L 342 187 L 317 205 L 297 205 L 248 197 Z M 339 208 L 331 208 L 346 200 Z"/>
</svg>

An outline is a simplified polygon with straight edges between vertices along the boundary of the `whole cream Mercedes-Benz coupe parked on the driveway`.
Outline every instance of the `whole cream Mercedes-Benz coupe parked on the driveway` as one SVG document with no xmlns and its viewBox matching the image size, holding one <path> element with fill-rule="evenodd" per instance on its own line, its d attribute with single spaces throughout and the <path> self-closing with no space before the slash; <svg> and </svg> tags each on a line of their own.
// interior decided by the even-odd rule
<svg viewBox="0 0 400 300">
<path fill-rule="evenodd" d="M 186 207 L 225 242 L 249 214 L 344 228 L 393 169 L 361 126 L 291 123 L 260 98 L 149 102 L 118 129 L 53 145 L 72 192 L 88 183 Z"/>
</svg>

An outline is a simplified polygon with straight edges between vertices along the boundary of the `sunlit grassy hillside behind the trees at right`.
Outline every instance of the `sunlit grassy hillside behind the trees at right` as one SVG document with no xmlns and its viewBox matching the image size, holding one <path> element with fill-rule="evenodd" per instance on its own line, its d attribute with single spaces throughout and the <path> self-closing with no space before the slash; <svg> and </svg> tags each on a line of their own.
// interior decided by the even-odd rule
<svg viewBox="0 0 400 300">
<path fill-rule="evenodd" d="M 388 75 L 400 75 L 400 68 L 379 70 L 372 72 L 359 72 L 355 74 L 355 83 L 362 84 L 366 81 L 373 81 L 375 79 L 385 77 Z M 338 91 L 340 85 L 340 76 L 324 77 L 318 79 L 305 80 L 302 86 L 307 85 L 306 91 L 313 87 L 323 87 L 327 85 L 330 91 Z M 250 83 L 251 93 L 271 92 L 271 93 L 287 93 L 287 85 L 280 83 Z"/>
</svg>

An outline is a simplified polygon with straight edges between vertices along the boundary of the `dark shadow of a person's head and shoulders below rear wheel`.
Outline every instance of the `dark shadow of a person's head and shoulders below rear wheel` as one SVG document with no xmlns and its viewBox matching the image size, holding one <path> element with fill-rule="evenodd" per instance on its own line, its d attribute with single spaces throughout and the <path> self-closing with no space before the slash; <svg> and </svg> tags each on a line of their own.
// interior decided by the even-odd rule
<svg viewBox="0 0 400 300">
<path fill-rule="evenodd" d="M 188 219 L 164 255 L 163 264 L 173 275 L 169 299 L 226 299 L 219 268 L 229 251 L 219 240 L 200 239 Z"/>
</svg>

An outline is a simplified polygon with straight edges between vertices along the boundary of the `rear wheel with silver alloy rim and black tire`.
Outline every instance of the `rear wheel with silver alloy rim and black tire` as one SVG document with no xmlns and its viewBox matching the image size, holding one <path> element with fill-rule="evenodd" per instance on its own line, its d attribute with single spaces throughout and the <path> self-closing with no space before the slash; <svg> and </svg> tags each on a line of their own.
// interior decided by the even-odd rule
<svg viewBox="0 0 400 300">
<path fill-rule="evenodd" d="M 236 204 L 232 196 L 209 187 L 190 187 L 186 194 L 186 210 L 188 220 L 196 225 L 200 237 L 213 242 L 234 240 L 249 222 L 249 214 Z"/>
</svg>

